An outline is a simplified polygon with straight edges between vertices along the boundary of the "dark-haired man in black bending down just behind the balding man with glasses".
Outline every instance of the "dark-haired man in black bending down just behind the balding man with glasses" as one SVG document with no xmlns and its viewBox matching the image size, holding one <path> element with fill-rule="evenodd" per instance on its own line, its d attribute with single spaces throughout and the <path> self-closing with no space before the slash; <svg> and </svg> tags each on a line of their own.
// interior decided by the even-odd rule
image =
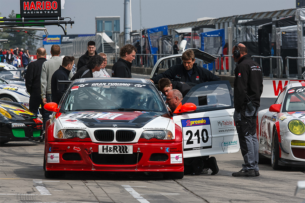
<svg viewBox="0 0 305 203">
<path fill-rule="evenodd" d="M 167 96 L 170 90 L 178 89 L 181 92 L 182 96 L 185 97 L 188 91 L 190 91 L 190 89 L 192 89 L 192 87 L 196 85 L 196 83 L 192 82 L 170 82 L 170 79 L 168 78 L 161 78 L 158 81 L 158 89 L 164 94 L 164 96 Z"/>
</svg>

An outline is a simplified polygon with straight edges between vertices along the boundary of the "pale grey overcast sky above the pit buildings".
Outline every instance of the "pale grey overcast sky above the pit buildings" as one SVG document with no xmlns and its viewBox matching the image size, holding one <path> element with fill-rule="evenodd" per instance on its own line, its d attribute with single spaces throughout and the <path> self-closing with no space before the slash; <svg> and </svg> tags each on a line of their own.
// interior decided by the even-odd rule
<svg viewBox="0 0 305 203">
<path fill-rule="evenodd" d="M 140 29 L 140 1 L 131 0 L 132 30 Z M 296 0 L 141 0 L 142 27 L 187 23 L 202 17 L 220 18 L 254 12 L 292 9 Z M 14 10 L 20 13 L 19 0 L 0 0 L 1 16 Z M 94 34 L 95 16 L 120 16 L 120 32 L 124 30 L 124 0 L 65 0 L 62 17 L 75 21 L 67 34 Z M 57 26 L 48 33 L 63 34 Z"/>
</svg>

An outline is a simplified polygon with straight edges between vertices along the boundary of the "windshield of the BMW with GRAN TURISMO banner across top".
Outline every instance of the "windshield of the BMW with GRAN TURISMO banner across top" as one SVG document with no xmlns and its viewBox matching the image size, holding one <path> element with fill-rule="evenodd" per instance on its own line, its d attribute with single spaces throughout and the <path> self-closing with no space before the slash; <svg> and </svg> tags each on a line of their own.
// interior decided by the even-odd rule
<svg viewBox="0 0 305 203">
<path fill-rule="evenodd" d="M 61 108 L 65 111 L 120 110 L 167 113 L 164 101 L 156 89 L 150 85 L 127 83 L 73 85 Z"/>
</svg>

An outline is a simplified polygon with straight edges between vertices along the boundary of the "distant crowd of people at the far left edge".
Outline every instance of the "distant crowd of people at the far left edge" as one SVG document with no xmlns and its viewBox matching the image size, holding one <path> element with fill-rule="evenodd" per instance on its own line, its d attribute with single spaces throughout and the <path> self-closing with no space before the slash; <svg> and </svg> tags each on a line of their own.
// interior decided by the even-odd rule
<svg viewBox="0 0 305 203">
<path fill-rule="evenodd" d="M 14 65 L 17 68 L 25 68 L 30 62 L 30 52 L 28 49 L 0 49 L 0 62 Z"/>
</svg>

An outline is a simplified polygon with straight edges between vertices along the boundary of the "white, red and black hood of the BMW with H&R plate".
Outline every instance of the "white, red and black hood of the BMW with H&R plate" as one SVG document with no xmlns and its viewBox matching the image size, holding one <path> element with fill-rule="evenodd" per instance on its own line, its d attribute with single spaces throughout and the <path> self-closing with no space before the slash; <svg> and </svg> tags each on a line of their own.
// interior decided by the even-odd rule
<svg viewBox="0 0 305 203">
<path fill-rule="evenodd" d="M 147 111 L 83 111 L 61 114 L 59 121 L 63 128 L 166 129 L 170 119 L 168 114 Z"/>
</svg>

